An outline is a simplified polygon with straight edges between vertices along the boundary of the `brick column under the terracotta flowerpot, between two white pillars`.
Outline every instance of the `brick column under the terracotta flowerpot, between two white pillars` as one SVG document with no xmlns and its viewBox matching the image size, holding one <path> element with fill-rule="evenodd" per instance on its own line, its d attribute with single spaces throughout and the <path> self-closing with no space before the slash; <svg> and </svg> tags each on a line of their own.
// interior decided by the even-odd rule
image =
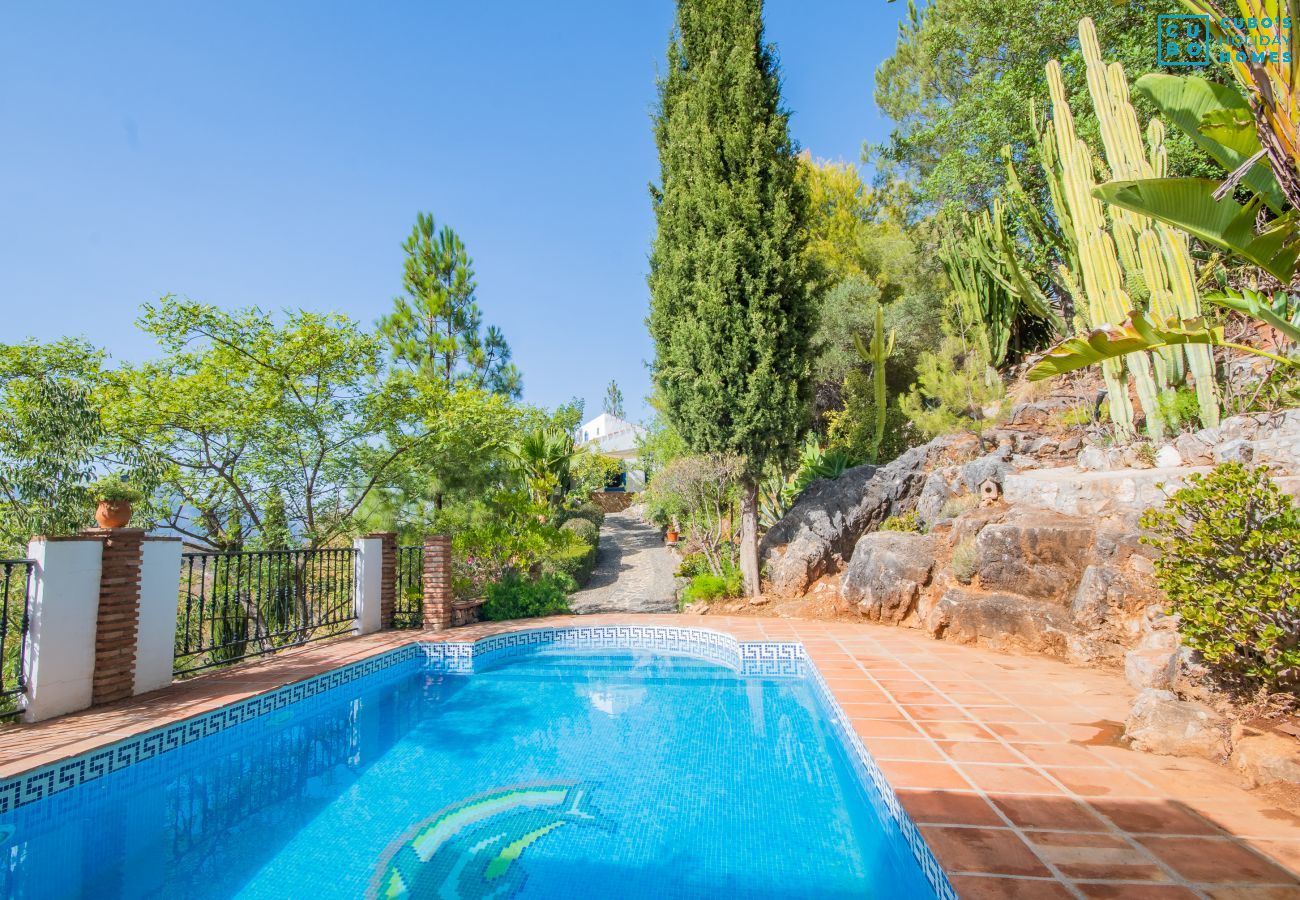
<svg viewBox="0 0 1300 900">
<path fill-rule="evenodd" d="M 91 702 L 110 704 L 135 692 L 135 644 L 140 624 L 143 528 L 91 528 L 104 542 L 95 623 L 95 676 Z"/>
</svg>

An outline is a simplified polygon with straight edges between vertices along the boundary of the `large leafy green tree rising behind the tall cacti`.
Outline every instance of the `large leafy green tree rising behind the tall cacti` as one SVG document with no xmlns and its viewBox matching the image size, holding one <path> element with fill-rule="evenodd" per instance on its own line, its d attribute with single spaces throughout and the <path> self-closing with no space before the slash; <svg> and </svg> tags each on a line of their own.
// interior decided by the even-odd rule
<svg viewBox="0 0 1300 900">
<path fill-rule="evenodd" d="M 1032 109 L 1046 109 L 1043 66 L 1061 60 L 1066 92 L 1076 98 L 1080 137 L 1101 146 L 1100 125 L 1087 104 L 1087 72 L 1075 35 L 1092 17 L 1108 52 L 1132 78 L 1156 70 L 1153 22 L 1167 9 L 1110 0 L 931 0 L 915 4 L 900 25 L 893 56 L 876 70 L 875 99 L 894 121 L 889 139 L 874 148 L 885 179 L 913 179 L 920 207 L 980 212 L 1006 183 L 1002 147 L 1010 147 L 1026 173 L 1026 187 L 1040 207 L 1046 183 Z M 1008 23 L 1032 22 L 1032 27 Z M 1225 73 L 1226 74 L 1226 73 Z M 1217 77 L 1223 78 L 1225 74 Z M 1154 107 L 1136 101 L 1140 125 Z M 1169 168 L 1210 174 L 1206 156 L 1184 135 L 1166 144 Z"/>
</svg>

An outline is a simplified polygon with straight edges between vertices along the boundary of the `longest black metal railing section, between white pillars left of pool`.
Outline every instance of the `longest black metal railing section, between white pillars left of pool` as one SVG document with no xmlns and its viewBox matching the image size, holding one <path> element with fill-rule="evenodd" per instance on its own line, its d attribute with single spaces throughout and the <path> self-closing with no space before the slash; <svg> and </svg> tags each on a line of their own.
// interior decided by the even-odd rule
<svg viewBox="0 0 1300 900">
<path fill-rule="evenodd" d="M 186 553 L 177 675 L 351 631 L 356 550 Z"/>
</svg>

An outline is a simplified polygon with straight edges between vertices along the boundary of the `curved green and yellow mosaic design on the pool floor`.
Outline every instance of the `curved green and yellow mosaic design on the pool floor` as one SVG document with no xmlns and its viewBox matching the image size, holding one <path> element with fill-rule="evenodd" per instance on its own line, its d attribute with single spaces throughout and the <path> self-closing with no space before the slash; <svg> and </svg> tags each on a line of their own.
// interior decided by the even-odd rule
<svg viewBox="0 0 1300 900">
<path fill-rule="evenodd" d="M 601 825 L 586 784 L 524 784 L 443 808 L 384 853 L 369 897 L 504 900 L 528 880 L 520 857 L 566 825 Z"/>
</svg>

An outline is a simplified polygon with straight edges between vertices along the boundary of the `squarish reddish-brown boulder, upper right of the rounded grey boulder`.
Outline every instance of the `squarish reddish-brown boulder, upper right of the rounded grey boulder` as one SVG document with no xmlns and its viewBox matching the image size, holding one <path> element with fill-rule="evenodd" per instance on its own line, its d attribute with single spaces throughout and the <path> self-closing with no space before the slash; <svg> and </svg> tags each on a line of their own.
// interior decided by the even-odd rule
<svg viewBox="0 0 1300 900">
<path fill-rule="evenodd" d="M 1013 510 L 975 538 L 980 587 L 1065 601 L 1079 584 L 1093 528 L 1043 510 Z"/>
</svg>

